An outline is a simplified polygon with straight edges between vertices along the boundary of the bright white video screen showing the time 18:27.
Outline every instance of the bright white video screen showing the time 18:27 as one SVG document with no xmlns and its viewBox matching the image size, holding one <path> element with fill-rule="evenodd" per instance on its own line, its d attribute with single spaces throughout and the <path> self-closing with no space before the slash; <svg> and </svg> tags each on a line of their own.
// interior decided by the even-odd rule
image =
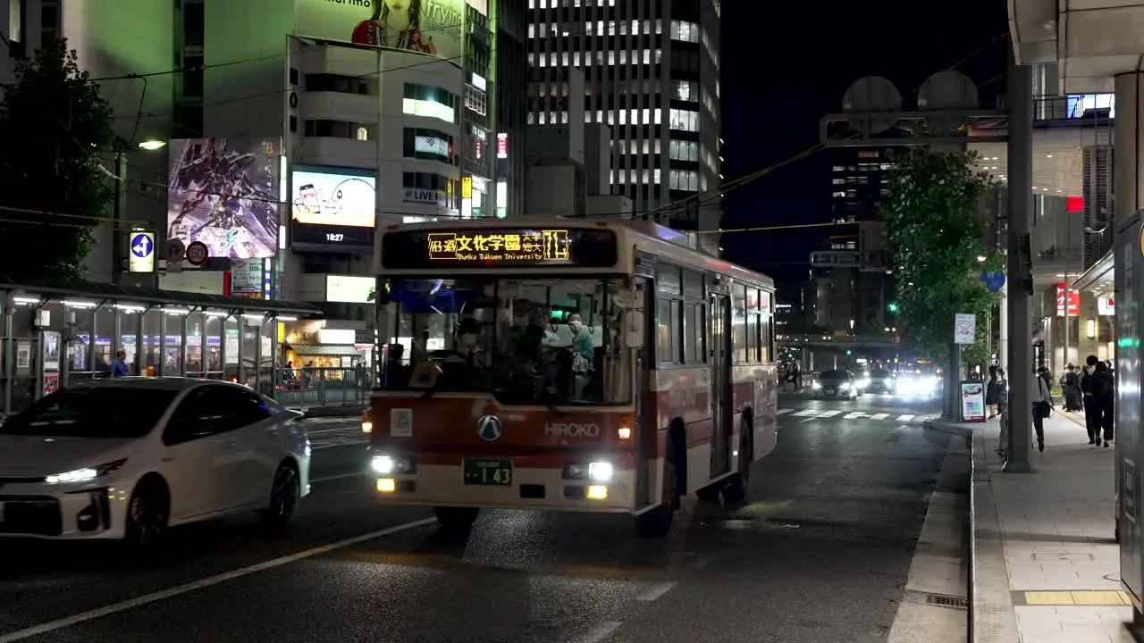
<svg viewBox="0 0 1144 643">
<path fill-rule="evenodd" d="M 310 244 L 370 245 L 376 178 L 344 170 L 295 168 L 291 175 L 293 236 Z"/>
</svg>

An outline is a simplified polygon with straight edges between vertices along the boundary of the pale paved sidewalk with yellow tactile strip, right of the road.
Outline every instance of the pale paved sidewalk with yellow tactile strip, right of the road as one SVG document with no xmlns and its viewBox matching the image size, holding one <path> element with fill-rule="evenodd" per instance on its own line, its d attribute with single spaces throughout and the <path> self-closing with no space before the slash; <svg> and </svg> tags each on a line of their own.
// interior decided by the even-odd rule
<svg viewBox="0 0 1144 643">
<path fill-rule="evenodd" d="M 1133 608 L 1113 539 L 1115 448 L 1083 419 L 1044 421 L 1033 474 L 1006 474 L 996 420 L 974 429 L 975 643 L 1127 643 Z"/>
</svg>

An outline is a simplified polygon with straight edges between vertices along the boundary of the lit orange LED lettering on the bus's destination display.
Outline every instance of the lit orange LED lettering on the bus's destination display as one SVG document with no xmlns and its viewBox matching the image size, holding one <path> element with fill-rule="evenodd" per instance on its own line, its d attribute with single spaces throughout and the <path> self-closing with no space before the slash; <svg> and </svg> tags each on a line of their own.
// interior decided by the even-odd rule
<svg viewBox="0 0 1144 643">
<path fill-rule="evenodd" d="M 430 261 L 451 263 L 574 263 L 567 230 L 429 232 Z"/>
</svg>

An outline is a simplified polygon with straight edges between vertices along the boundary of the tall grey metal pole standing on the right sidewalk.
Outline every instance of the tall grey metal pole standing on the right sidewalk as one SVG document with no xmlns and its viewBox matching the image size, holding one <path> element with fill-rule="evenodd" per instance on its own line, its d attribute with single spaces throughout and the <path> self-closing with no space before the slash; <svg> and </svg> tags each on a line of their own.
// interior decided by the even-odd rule
<svg viewBox="0 0 1144 643">
<path fill-rule="evenodd" d="M 1033 413 L 1030 388 L 1033 372 L 1030 359 L 1030 296 L 1032 294 L 1032 256 L 1030 235 L 1033 229 L 1033 74 L 1027 65 L 1018 65 L 1009 53 L 1009 291 L 1008 370 L 1009 370 L 1009 444 L 1006 473 L 1027 474 L 1033 470 Z M 1065 322 L 1068 317 L 1065 293 Z"/>
</svg>

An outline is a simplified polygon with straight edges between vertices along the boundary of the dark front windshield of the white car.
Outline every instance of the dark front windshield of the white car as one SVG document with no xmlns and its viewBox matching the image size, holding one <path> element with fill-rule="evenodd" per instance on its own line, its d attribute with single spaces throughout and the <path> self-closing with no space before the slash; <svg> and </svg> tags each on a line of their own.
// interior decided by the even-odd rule
<svg viewBox="0 0 1144 643">
<path fill-rule="evenodd" d="M 176 394 L 143 387 L 62 389 L 10 418 L 0 435 L 138 438 L 154 428 Z"/>
</svg>

